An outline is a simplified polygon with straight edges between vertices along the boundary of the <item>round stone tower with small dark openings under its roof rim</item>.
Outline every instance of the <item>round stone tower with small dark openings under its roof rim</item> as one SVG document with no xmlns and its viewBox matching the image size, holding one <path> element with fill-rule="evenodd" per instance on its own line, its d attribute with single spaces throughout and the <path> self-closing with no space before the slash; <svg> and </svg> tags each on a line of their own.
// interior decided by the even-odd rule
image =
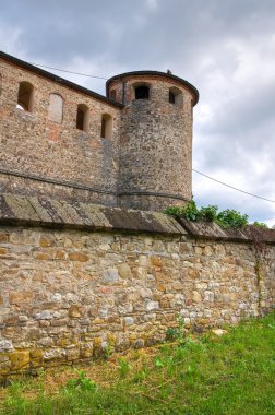
<svg viewBox="0 0 275 415">
<path fill-rule="evenodd" d="M 107 97 L 124 105 L 119 145 L 118 201 L 159 211 L 192 198 L 192 111 L 199 92 L 155 71 L 107 81 Z"/>
</svg>

